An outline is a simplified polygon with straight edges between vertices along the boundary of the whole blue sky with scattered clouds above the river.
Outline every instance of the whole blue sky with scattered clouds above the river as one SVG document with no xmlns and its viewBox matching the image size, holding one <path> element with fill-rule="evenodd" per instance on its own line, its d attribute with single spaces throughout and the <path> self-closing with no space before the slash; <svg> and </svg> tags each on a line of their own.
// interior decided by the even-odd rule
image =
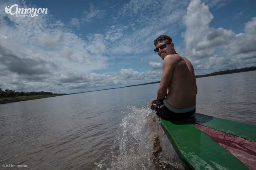
<svg viewBox="0 0 256 170">
<path fill-rule="evenodd" d="M 6 13 L 47 8 L 38 16 Z M 160 81 L 171 36 L 195 74 L 256 66 L 255 0 L 1 0 L 0 88 L 76 93 Z M 15 8 L 12 8 L 12 13 Z"/>
</svg>

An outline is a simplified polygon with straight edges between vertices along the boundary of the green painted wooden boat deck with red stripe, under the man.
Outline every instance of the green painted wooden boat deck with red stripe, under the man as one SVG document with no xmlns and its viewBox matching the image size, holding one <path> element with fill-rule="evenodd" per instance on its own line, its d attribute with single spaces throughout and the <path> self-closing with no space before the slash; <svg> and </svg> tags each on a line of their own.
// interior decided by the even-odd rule
<svg viewBox="0 0 256 170">
<path fill-rule="evenodd" d="M 256 126 L 199 113 L 196 113 L 195 118 L 184 120 L 160 119 L 160 121 L 185 169 L 244 170 L 256 167 Z M 214 134 L 215 138 L 211 134 Z M 231 138 L 230 135 L 232 135 Z M 226 136 L 229 136 L 229 138 L 227 139 Z M 244 141 L 247 143 L 249 142 L 247 149 L 239 146 L 241 139 L 239 141 L 236 137 L 245 139 Z M 249 147 L 251 151 L 247 154 L 249 163 L 242 163 L 241 160 L 238 160 L 233 155 L 234 153 L 231 154 L 227 148 L 223 147 L 220 141 L 224 143 L 228 141 L 225 145 L 228 145 L 231 149 L 233 145 L 244 150 L 248 150 Z M 230 141 L 234 142 L 229 145 Z M 235 141 L 239 141 L 238 144 Z M 243 143 L 241 145 L 245 146 Z M 239 152 L 239 150 L 235 152 Z"/>
</svg>

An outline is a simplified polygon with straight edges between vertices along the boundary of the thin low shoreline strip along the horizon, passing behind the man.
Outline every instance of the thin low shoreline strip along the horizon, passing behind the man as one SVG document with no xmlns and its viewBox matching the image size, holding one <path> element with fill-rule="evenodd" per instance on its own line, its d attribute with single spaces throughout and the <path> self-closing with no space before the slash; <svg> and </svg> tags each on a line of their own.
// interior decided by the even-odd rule
<svg viewBox="0 0 256 170">
<path fill-rule="evenodd" d="M 235 69 L 232 69 L 232 70 L 225 70 L 225 71 L 214 72 L 214 73 L 210 73 L 210 74 L 196 75 L 196 78 L 210 77 L 210 76 L 223 75 L 223 74 L 250 72 L 250 71 L 255 71 L 255 70 L 256 70 L 255 66 L 253 66 L 253 67 L 245 67 L 245 68 L 241 68 L 241 69 L 235 68 Z M 130 85 L 130 86 L 124 86 L 124 87 L 141 86 L 141 85 L 148 85 L 148 84 L 155 84 L 155 83 L 160 83 L 160 81 L 155 81 L 155 82 L 151 82 L 151 83 L 144 83 L 144 84 L 137 84 L 137 85 Z M 120 89 L 120 88 L 124 88 L 124 87 L 115 87 L 115 88 L 102 89 L 102 90 Z M 102 91 L 102 90 L 92 90 L 92 91 L 79 92 L 79 93 L 71 93 L 71 94 L 35 95 L 35 96 L 19 96 L 19 97 L 0 97 L 0 104 L 12 103 L 12 102 L 20 102 L 20 101 L 26 101 L 26 100 L 35 100 L 35 99 L 39 99 L 39 98 L 55 97 L 55 96 L 62 96 L 62 95 L 73 95 L 73 94 L 87 93 L 87 92 L 93 92 L 93 91 Z"/>
</svg>

